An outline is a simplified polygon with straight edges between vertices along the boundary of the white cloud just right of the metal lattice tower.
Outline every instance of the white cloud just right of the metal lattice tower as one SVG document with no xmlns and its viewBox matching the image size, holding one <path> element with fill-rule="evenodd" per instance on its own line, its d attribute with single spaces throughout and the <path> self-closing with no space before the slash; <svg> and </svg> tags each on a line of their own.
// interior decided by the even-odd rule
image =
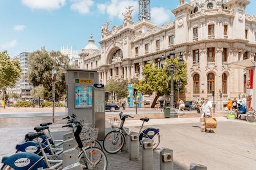
<svg viewBox="0 0 256 170">
<path fill-rule="evenodd" d="M 151 9 L 151 20 L 157 25 L 162 25 L 170 21 L 170 16 L 173 15 L 172 11 L 164 10 L 164 8 L 153 7 Z"/>
</svg>

